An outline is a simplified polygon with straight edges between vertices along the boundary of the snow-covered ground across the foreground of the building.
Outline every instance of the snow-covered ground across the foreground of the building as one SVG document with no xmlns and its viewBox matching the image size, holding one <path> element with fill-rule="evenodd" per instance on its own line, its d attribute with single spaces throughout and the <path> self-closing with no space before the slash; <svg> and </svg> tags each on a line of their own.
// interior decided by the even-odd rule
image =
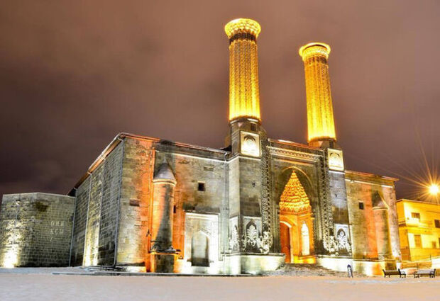
<svg viewBox="0 0 440 301">
<path fill-rule="evenodd" d="M 66 276 L 50 271 L 1 269 L 0 300 L 440 300 L 440 278 Z"/>
</svg>

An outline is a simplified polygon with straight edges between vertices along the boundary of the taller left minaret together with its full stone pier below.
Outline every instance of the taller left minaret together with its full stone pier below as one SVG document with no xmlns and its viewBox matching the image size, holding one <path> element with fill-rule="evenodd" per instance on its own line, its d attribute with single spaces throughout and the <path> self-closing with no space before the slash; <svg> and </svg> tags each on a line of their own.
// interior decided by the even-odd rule
<svg viewBox="0 0 440 301">
<path fill-rule="evenodd" d="M 226 147 L 231 153 L 228 154 L 229 203 L 224 205 L 223 225 L 226 233 L 232 231 L 231 241 L 236 242 L 231 251 L 241 252 L 242 263 L 237 266 L 241 269 L 246 265 L 260 264 L 258 259 L 246 257 L 249 252 L 259 252 L 258 246 L 249 244 L 246 239 L 241 241 L 248 233 L 246 227 L 251 225 L 248 217 L 261 221 L 259 231 L 265 237 L 274 237 L 275 222 L 270 215 L 273 204 L 266 193 L 270 191 L 270 181 L 265 178 L 267 172 L 263 172 L 268 168 L 268 137 L 261 126 L 258 87 L 260 24 L 239 18 L 227 23 L 224 30 L 229 38 L 229 132 Z M 269 251 L 275 251 L 272 242 L 273 238 L 265 243 Z"/>
</svg>

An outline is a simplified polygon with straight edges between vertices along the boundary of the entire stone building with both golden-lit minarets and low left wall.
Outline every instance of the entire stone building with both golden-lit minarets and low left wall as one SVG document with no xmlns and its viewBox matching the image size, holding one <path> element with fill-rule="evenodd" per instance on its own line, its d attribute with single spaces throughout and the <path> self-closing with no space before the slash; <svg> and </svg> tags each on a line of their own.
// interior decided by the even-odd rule
<svg viewBox="0 0 440 301">
<path fill-rule="evenodd" d="M 260 274 L 314 263 L 366 275 L 400 261 L 396 178 L 345 169 L 330 47 L 299 48 L 308 144 L 270 139 L 260 118 L 260 25 L 229 38 L 223 149 L 121 133 L 67 195 L 3 196 L 0 266 Z"/>
</svg>

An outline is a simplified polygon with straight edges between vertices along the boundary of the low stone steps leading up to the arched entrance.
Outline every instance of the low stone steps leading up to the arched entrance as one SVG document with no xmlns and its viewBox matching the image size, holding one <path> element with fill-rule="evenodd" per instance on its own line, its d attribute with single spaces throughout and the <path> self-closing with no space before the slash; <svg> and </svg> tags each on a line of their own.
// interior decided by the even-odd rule
<svg viewBox="0 0 440 301">
<path fill-rule="evenodd" d="M 333 276 L 347 278 L 347 272 L 338 272 L 324 268 L 316 263 L 285 263 L 285 266 L 278 268 L 276 271 L 266 273 L 268 276 Z M 353 272 L 354 277 L 358 277 L 358 273 Z"/>
</svg>

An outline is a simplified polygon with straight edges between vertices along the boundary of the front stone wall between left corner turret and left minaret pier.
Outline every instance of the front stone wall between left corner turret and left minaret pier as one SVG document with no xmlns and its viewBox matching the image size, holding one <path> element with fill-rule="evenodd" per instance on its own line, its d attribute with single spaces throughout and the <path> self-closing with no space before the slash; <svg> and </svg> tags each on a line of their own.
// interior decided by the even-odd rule
<svg viewBox="0 0 440 301">
<path fill-rule="evenodd" d="M 185 232 L 185 212 L 218 216 L 217 225 L 213 227 L 215 233 L 209 232 L 209 239 L 216 239 L 216 249 L 209 251 L 209 260 L 215 266 L 222 259 L 221 252 L 228 248 L 229 225 L 225 213 L 228 210 L 225 178 L 228 169 L 224 162 L 224 152 L 156 144 L 155 169 L 164 161 L 167 161 L 177 180 L 173 213 L 173 247 L 180 250 L 177 266 L 181 271 L 185 270 L 187 260 L 191 259 L 191 254 L 185 252 L 185 240 L 191 242 L 192 236 L 199 231 L 197 227 L 191 227 L 194 231 Z"/>
</svg>

